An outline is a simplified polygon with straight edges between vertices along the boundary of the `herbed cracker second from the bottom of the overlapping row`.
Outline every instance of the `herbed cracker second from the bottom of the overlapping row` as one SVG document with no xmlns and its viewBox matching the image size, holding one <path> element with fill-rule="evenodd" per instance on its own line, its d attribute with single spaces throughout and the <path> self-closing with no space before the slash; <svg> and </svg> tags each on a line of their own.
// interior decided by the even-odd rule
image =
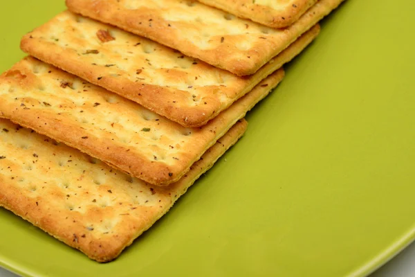
<svg viewBox="0 0 415 277">
<path fill-rule="evenodd" d="M 150 184 L 178 181 L 283 78 L 276 71 L 203 127 L 186 128 L 33 57 L 0 76 L 0 117 Z"/>
</svg>

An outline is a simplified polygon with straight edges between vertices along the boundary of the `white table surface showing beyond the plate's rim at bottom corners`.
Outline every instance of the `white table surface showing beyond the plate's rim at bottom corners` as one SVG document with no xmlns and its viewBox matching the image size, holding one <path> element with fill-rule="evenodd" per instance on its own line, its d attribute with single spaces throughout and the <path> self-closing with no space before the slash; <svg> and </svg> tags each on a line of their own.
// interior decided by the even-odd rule
<svg viewBox="0 0 415 277">
<path fill-rule="evenodd" d="M 415 277 L 415 243 L 398 254 L 390 262 L 380 267 L 370 277 Z M 0 277 L 17 277 L 0 268 Z M 82 277 L 82 276 L 81 276 Z"/>
</svg>

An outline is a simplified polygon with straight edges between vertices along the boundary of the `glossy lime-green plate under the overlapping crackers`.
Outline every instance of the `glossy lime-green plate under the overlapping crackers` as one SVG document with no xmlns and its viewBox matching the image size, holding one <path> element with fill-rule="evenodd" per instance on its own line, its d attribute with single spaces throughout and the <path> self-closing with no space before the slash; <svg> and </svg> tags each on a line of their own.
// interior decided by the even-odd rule
<svg viewBox="0 0 415 277">
<path fill-rule="evenodd" d="M 1 1 L 0 69 L 64 1 Z M 415 236 L 415 4 L 348 0 L 249 115 L 246 136 L 118 260 L 0 209 L 26 276 L 363 276 Z"/>
</svg>

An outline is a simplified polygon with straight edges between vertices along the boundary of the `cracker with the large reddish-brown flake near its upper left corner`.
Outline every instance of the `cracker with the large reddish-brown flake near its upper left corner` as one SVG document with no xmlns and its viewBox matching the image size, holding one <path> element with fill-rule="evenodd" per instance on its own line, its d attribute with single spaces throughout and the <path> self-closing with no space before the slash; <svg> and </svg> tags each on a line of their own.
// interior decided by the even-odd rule
<svg viewBox="0 0 415 277">
<path fill-rule="evenodd" d="M 115 38 L 102 42 L 97 33 Z M 205 125 L 319 33 L 306 33 L 255 75 L 240 78 L 143 37 L 64 12 L 24 37 L 30 55 L 140 103 L 186 127 Z M 102 32 L 101 32 L 102 33 Z"/>
</svg>

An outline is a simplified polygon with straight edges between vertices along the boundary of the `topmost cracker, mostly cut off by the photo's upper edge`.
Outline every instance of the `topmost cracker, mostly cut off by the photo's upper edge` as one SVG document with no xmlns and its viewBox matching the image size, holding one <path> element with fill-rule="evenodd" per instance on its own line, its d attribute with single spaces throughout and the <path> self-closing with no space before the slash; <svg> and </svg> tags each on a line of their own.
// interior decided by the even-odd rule
<svg viewBox="0 0 415 277">
<path fill-rule="evenodd" d="M 301 17 L 317 0 L 197 0 L 272 28 L 284 28 Z"/>
</svg>

